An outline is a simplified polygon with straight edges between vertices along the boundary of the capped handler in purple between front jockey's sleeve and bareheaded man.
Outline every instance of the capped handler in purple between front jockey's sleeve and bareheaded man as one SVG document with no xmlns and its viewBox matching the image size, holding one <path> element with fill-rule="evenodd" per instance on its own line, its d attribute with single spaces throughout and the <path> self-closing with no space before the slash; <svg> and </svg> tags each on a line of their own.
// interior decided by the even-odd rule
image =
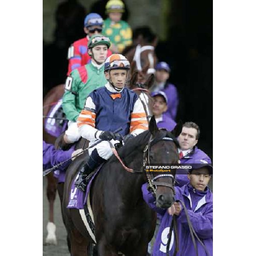
<svg viewBox="0 0 256 256">
<path fill-rule="evenodd" d="M 157 127 L 172 131 L 175 128 L 176 122 L 166 114 L 168 108 L 168 98 L 166 94 L 159 91 L 151 93 L 151 96 L 154 99 L 153 114 L 157 122 Z"/>
</svg>

